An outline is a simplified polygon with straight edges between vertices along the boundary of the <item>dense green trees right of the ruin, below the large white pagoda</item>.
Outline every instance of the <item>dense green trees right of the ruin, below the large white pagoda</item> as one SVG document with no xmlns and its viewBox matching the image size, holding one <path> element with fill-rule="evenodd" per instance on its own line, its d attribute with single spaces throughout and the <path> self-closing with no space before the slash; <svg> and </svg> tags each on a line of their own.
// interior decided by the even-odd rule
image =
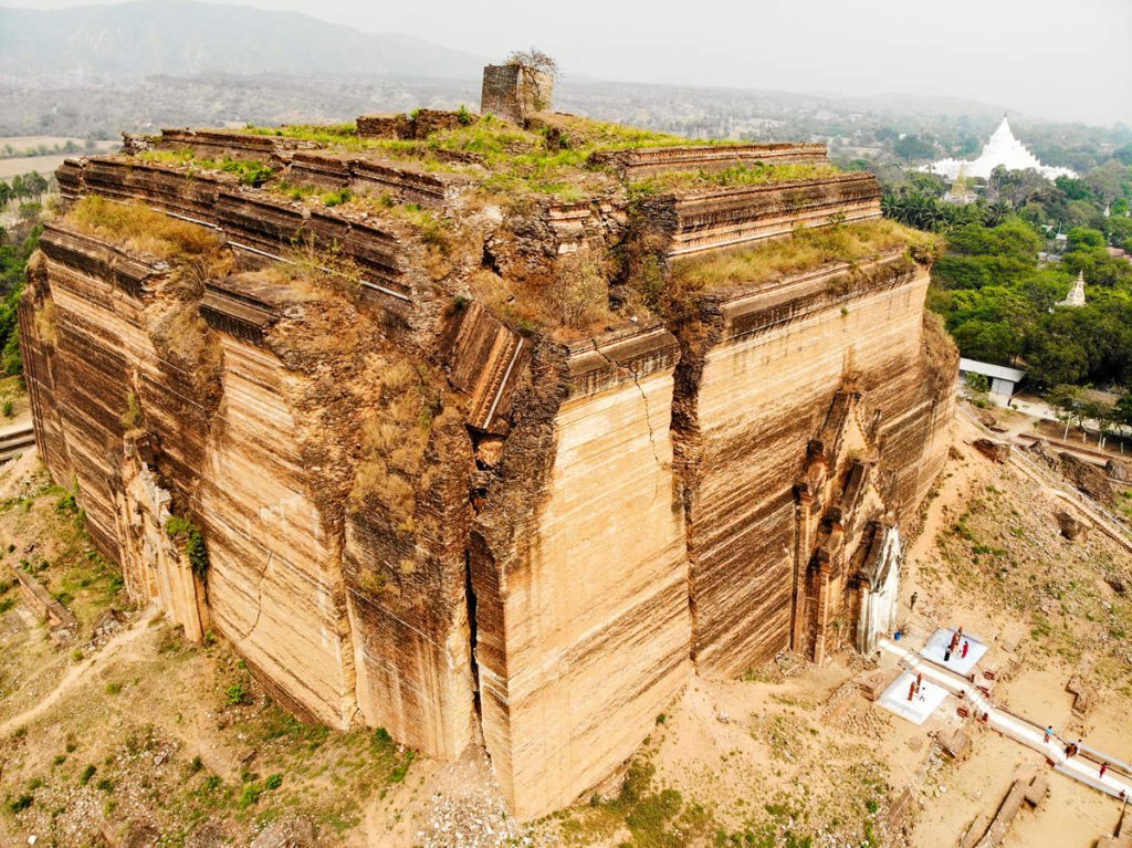
<svg viewBox="0 0 1132 848">
<path fill-rule="evenodd" d="M 889 217 L 944 235 L 928 306 L 961 353 L 1024 368 L 1030 388 L 1055 408 L 1078 403 L 1074 389 L 1084 387 L 1129 395 L 1132 146 L 1053 183 L 998 169 L 966 205 L 943 199 L 946 188 L 908 171 L 887 182 L 882 206 Z M 1079 274 L 1086 306 L 1058 306 Z M 1132 395 L 1117 405 L 1126 409 L 1117 419 L 1132 423 Z"/>
</svg>

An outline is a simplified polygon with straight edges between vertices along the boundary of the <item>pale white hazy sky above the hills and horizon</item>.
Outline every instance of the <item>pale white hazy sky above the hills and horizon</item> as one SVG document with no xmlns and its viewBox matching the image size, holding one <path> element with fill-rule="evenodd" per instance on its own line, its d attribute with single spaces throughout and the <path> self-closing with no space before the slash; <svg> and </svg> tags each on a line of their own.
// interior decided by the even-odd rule
<svg viewBox="0 0 1132 848">
<path fill-rule="evenodd" d="M 534 44 L 567 76 L 949 95 L 1132 125 L 1132 0 L 230 1 L 489 57 Z"/>
</svg>

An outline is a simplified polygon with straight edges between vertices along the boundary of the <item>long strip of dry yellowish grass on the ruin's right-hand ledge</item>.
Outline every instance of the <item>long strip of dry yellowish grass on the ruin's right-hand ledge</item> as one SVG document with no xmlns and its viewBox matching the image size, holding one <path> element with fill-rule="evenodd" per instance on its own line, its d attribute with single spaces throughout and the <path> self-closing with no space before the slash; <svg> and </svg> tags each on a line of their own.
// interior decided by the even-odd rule
<svg viewBox="0 0 1132 848">
<path fill-rule="evenodd" d="M 672 266 L 678 290 L 698 291 L 745 283 L 773 282 L 806 268 L 832 263 L 855 265 L 907 248 L 914 259 L 933 255 L 937 239 L 886 219 L 796 230 L 792 238 L 753 248 L 680 259 Z"/>
</svg>

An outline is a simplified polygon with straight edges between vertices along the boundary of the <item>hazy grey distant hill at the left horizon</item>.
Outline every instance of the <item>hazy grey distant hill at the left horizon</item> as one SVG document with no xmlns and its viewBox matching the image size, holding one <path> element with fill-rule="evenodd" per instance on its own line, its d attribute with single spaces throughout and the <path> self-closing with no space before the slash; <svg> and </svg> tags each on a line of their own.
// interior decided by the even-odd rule
<svg viewBox="0 0 1132 848">
<path fill-rule="evenodd" d="M 0 8 L 0 78 L 123 83 L 172 74 L 478 78 L 484 59 L 411 35 L 192 0 L 40 11 Z"/>
</svg>

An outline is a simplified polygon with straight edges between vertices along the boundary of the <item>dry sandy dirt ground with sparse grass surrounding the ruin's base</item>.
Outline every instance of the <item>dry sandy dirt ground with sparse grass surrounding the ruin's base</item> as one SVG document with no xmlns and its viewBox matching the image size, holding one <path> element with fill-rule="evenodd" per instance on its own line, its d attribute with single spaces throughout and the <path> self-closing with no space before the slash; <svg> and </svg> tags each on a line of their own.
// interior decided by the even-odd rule
<svg viewBox="0 0 1132 848">
<path fill-rule="evenodd" d="M 971 449 L 976 436 L 955 423 L 952 460 L 907 549 L 908 640 L 961 624 L 1015 648 L 1020 670 L 995 687 L 997 703 L 1132 760 L 1132 602 L 1113 588 L 1132 585 L 1132 557 L 1099 532 L 1062 539 L 1053 513 L 1063 502 Z M 0 567 L 27 563 L 86 628 L 55 649 L 17 590 L 0 594 L 0 846 L 148 833 L 203 848 L 269 830 L 351 847 L 940 848 L 997 808 L 1020 766 L 1046 769 L 970 722 L 970 750 L 943 756 L 934 737 L 959 727 L 953 701 L 916 726 L 863 696 L 858 683 L 894 676 L 892 661 L 842 651 L 814 667 L 786 654 L 740 679 L 694 679 L 620 773 L 520 825 L 480 751 L 441 763 L 381 730 L 300 725 L 224 644 L 186 644 L 152 611 L 129 611 L 92 643 L 98 616 L 125 607 L 77 517 L 34 452 L 0 468 Z M 1074 673 L 1094 687 L 1083 719 L 1065 692 Z M 1047 798 L 1023 808 L 1005 846 L 1091 848 L 1112 832 L 1117 802 L 1047 773 Z"/>
</svg>

